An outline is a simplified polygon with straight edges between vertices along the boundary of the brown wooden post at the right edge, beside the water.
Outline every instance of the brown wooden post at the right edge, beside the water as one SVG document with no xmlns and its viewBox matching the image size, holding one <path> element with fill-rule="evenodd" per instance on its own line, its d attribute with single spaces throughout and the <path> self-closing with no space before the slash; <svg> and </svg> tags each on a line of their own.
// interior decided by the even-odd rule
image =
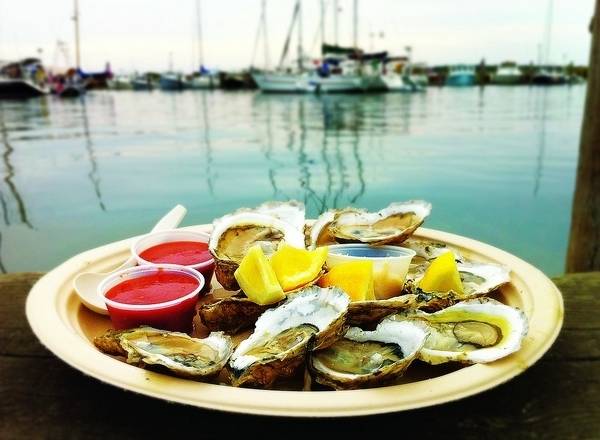
<svg viewBox="0 0 600 440">
<path fill-rule="evenodd" d="M 567 272 L 600 270 L 600 0 L 596 0 L 590 30 L 592 44 Z"/>
</svg>

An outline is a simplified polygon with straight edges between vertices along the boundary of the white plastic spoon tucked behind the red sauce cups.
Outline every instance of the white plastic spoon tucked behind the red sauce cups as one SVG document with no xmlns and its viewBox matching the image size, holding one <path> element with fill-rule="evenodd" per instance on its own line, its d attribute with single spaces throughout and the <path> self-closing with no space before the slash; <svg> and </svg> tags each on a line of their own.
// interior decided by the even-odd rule
<svg viewBox="0 0 600 440">
<path fill-rule="evenodd" d="M 182 205 L 177 205 L 175 208 L 171 209 L 167 215 L 161 218 L 158 223 L 152 228 L 152 232 L 162 231 L 165 229 L 174 229 L 179 226 L 183 217 L 187 213 L 187 209 Z M 116 269 L 105 272 L 105 273 L 95 273 L 95 272 L 83 272 L 75 277 L 73 280 L 73 288 L 77 295 L 79 295 L 79 299 L 88 309 L 93 312 L 100 313 L 102 315 L 108 315 L 108 310 L 106 309 L 106 304 L 104 304 L 104 300 L 100 295 L 98 295 L 98 285 L 102 282 L 104 278 L 109 276 L 112 273 L 115 273 L 119 270 L 126 269 L 128 267 L 133 267 L 136 265 L 136 260 L 133 256 L 130 256 L 123 264 L 121 264 Z"/>
</svg>

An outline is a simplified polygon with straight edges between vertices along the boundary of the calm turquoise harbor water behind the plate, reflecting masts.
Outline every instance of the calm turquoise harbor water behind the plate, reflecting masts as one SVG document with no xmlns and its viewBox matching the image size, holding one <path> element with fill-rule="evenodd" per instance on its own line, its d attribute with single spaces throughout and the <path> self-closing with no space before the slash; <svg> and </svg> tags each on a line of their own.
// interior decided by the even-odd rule
<svg viewBox="0 0 600 440">
<path fill-rule="evenodd" d="M 264 200 L 379 209 L 433 203 L 427 225 L 562 272 L 585 86 L 420 95 L 92 92 L 0 102 L 4 271 L 48 270 L 148 231 Z"/>
</svg>

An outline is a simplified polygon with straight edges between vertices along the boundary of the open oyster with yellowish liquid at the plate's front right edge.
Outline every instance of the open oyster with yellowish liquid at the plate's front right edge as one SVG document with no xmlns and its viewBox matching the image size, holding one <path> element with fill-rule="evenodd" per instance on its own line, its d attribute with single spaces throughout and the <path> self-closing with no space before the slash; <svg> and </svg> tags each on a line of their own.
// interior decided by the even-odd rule
<svg viewBox="0 0 600 440">
<path fill-rule="evenodd" d="M 425 323 L 429 336 L 419 359 L 430 364 L 495 361 L 519 350 L 528 330 L 521 310 L 489 298 L 464 301 L 431 314 L 400 313 L 386 320 Z"/>
</svg>

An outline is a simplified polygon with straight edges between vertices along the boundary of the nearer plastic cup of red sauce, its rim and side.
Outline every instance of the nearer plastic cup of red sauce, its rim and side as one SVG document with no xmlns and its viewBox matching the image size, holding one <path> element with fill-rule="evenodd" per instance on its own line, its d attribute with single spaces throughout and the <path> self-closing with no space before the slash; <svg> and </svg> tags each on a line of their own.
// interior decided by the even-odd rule
<svg viewBox="0 0 600 440">
<path fill-rule="evenodd" d="M 178 298 L 153 304 L 125 304 L 106 297 L 110 289 L 124 281 L 155 276 L 159 272 L 189 275 L 197 281 L 197 286 Z M 189 333 L 192 330 L 198 295 L 204 287 L 204 283 L 201 273 L 185 266 L 174 264 L 135 266 L 123 269 L 102 281 L 98 286 L 98 294 L 104 299 L 110 319 L 116 329 L 150 325 L 161 330 Z M 165 288 L 168 289 L 168 284 L 165 285 Z"/>
</svg>

